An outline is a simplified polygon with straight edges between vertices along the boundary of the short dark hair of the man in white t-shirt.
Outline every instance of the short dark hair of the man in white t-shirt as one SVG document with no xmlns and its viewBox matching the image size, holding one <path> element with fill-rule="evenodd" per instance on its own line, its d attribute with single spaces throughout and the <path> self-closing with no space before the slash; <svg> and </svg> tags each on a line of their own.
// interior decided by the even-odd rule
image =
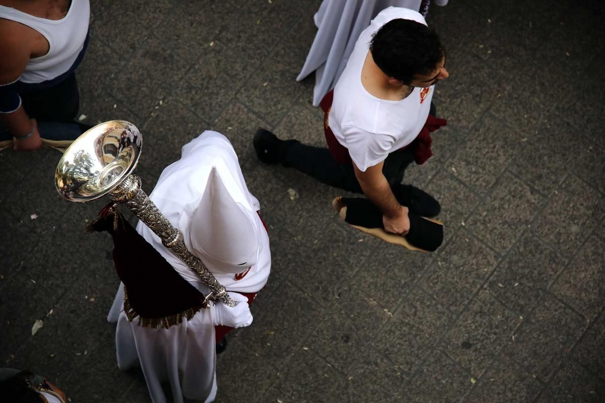
<svg viewBox="0 0 605 403">
<path fill-rule="evenodd" d="M 416 74 L 433 73 L 445 56 L 435 31 L 401 18 L 387 22 L 374 33 L 370 52 L 384 74 L 404 84 L 409 84 Z"/>
</svg>

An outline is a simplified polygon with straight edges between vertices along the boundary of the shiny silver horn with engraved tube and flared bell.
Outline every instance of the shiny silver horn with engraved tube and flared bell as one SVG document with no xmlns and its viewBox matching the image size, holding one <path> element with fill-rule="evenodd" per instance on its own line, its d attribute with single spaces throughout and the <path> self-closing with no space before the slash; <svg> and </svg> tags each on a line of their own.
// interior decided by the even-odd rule
<svg viewBox="0 0 605 403">
<path fill-rule="evenodd" d="M 206 265 L 189 252 L 181 232 L 172 226 L 141 189 L 141 179 L 132 173 L 139 162 L 142 136 L 134 124 L 111 120 L 83 133 L 65 151 L 54 174 L 57 192 L 73 202 L 87 202 L 108 195 L 124 204 L 160 237 L 163 245 L 182 260 L 208 286 L 208 301 L 235 302 Z"/>
</svg>

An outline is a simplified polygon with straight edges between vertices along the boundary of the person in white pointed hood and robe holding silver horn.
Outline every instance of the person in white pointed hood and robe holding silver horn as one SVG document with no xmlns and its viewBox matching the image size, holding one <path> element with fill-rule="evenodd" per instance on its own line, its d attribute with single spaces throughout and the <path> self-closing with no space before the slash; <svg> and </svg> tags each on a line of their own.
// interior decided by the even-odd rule
<svg viewBox="0 0 605 403">
<path fill-rule="evenodd" d="M 166 401 L 165 381 L 175 403 L 183 402 L 183 396 L 212 402 L 217 394 L 216 339 L 232 327 L 252 323 L 248 301 L 269 277 L 269 237 L 260 204 L 246 187 L 231 143 L 212 131 L 183 146 L 180 160 L 163 170 L 149 198 L 237 305 L 229 308 L 217 301 L 176 326 L 146 328 L 137 319 L 129 321 L 120 284 L 108 314 L 108 321 L 117 322 L 117 363 L 122 370 L 140 364 L 154 403 Z M 183 279 L 208 294 L 208 287 L 145 224 L 139 222 L 136 230 Z"/>
</svg>

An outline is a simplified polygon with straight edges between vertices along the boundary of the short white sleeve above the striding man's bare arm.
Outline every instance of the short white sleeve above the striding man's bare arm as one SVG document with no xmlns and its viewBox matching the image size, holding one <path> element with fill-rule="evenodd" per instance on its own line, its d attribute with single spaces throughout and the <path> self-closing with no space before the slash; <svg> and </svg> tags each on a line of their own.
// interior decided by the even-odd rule
<svg viewBox="0 0 605 403">
<path fill-rule="evenodd" d="M 384 161 L 394 144 L 389 135 L 367 132 L 356 126 L 342 126 L 342 135 L 351 160 L 361 172 Z"/>
</svg>

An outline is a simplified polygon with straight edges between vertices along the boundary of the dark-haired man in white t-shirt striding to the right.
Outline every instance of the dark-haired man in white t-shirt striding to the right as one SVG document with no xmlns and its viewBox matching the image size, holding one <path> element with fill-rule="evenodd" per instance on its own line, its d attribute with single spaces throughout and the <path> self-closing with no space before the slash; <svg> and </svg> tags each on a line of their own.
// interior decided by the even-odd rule
<svg viewBox="0 0 605 403">
<path fill-rule="evenodd" d="M 419 13 L 382 10 L 359 36 L 331 108 L 324 108 L 330 148 L 283 141 L 261 129 L 254 138 L 258 158 L 364 193 L 384 214 L 385 230 L 405 235 L 410 229 L 408 208 L 422 216 L 440 211 L 430 195 L 401 181 L 411 161 L 419 161 L 414 140 L 419 140 L 430 112 L 434 115 L 434 84 L 449 76 L 444 63 L 439 37 Z"/>
</svg>

